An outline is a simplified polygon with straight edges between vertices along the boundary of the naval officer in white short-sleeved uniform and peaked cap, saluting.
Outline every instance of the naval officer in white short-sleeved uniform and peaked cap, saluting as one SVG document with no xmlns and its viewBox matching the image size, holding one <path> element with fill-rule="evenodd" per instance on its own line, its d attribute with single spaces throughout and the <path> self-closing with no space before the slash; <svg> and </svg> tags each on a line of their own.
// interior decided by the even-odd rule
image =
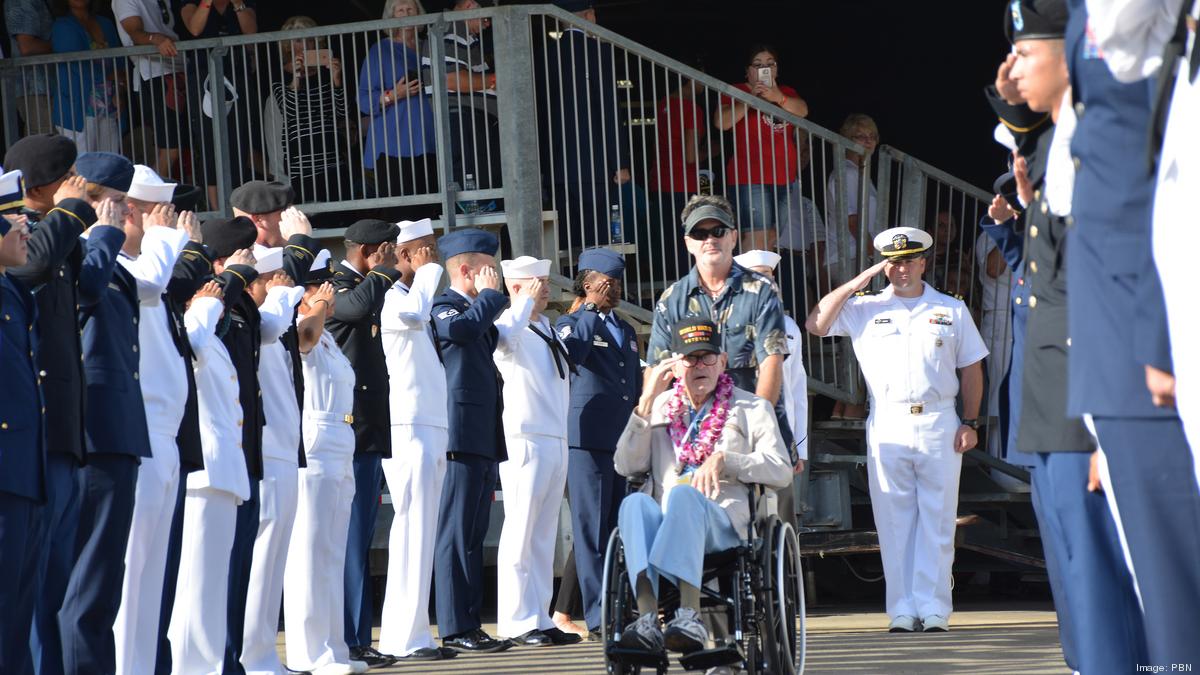
<svg viewBox="0 0 1200 675">
<path fill-rule="evenodd" d="M 920 279 L 932 244 L 912 227 L 881 232 L 886 259 L 822 298 L 805 323 L 817 336 L 848 335 L 866 380 L 866 474 L 893 632 L 949 629 L 959 471 L 978 443 L 988 356 L 962 300 Z M 890 285 L 862 292 L 881 271 Z"/>
</svg>

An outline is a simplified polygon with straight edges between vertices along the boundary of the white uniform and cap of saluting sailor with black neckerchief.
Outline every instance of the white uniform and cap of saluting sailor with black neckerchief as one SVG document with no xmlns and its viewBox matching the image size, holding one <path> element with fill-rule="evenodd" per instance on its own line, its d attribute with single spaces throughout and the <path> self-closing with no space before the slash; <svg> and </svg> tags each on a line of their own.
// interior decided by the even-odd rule
<svg viewBox="0 0 1200 675">
<path fill-rule="evenodd" d="M 529 256 L 500 265 L 506 279 L 550 273 L 550 261 Z M 533 307 L 532 298 L 515 295 L 496 321 L 493 358 L 504 378 L 509 450 L 499 466 L 504 528 L 496 554 L 496 631 L 509 638 L 554 627 L 554 542 L 566 488 L 570 359 L 548 318 L 530 321 Z"/>
</svg>

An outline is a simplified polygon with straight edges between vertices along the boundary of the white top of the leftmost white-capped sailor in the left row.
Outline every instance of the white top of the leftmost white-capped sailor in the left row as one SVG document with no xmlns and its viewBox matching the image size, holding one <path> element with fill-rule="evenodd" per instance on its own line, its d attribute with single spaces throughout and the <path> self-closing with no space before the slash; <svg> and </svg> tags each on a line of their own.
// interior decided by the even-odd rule
<svg viewBox="0 0 1200 675">
<path fill-rule="evenodd" d="M 174 438 L 184 419 L 187 402 L 187 360 L 170 336 L 172 317 L 162 294 L 170 282 L 175 258 L 187 244 L 187 233 L 169 227 L 148 227 L 142 239 L 142 253 L 125 253 L 118 262 L 133 276 L 138 287 L 138 372 L 146 425 L 154 434 Z"/>
</svg>

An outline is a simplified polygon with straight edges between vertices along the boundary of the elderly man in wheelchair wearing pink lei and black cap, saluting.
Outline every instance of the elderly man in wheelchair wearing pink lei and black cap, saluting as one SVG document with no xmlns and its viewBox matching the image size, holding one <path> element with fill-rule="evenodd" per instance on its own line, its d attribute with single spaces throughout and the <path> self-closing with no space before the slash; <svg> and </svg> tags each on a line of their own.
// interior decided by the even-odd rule
<svg viewBox="0 0 1200 675">
<path fill-rule="evenodd" d="M 647 377 L 613 458 L 618 473 L 646 476 L 646 483 L 622 502 L 608 545 L 604 631 L 610 673 L 640 671 L 622 664 L 637 653 L 660 655 L 641 663 L 661 673 L 665 651 L 685 655 L 689 669 L 731 664 L 733 659 L 686 661 L 688 655 L 707 653 L 710 640 L 702 597 L 708 605 L 724 605 L 726 613 L 715 623 L 722 629 L 732 623 L 734 640 L 762 637 L 749 649 L 730 643 L 748 670 L 778 673 L 786 662 L 787 671 L 796 671 L 794 617 L 803 599 L 797 597 L 802 590 L 794 533 L 774 514 L 756 516 L 763 510 L 757 500 L 763 489 L 786 488 L 792 480 L 774 411 L 766 400 L 733 387 L 715 324 L 685 318 L 671 330 L 674 353 Z M 736 555 L 725 556 L 725 569 L 736 579 L 726 580 L 725 591 L 716 590 L 708 563 L 730 552 Z M 780 565 L 781 557 L 786 565 Z M 664 631 L 659 610 L 666 589 L 677 590 L 678 608 Z M 634 616 L 630 604 L 636 604 L 637 617 L 626 623 Z M 774 627 L 762 625 L 772 622 Z M 779 658 L 763 656 L 768 650 Z"/>
</svg>

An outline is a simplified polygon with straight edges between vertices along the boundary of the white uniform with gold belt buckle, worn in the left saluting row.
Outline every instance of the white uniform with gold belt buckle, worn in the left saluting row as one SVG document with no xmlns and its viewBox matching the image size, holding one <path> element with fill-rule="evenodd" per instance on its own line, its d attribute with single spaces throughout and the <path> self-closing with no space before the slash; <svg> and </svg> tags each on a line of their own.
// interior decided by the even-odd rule
<svg viewBox="0 0 1200 675">
<path fill-rule="evenodd" d="M 343 584 L 354 500 L 354 368 L 329 331 L 302 357 L 304 448 L 295 524 L 283 572 L 288 665 L 350 667 Z"/>
</svg>

